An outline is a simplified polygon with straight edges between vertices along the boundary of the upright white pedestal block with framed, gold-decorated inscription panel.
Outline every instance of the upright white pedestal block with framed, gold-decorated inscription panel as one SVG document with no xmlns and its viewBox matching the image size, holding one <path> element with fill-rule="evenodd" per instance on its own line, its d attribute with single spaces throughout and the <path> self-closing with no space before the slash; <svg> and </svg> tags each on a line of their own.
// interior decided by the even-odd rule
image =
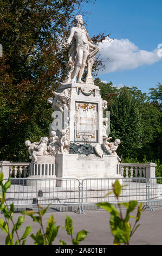
<svg viewBox="0 0 162 256">
<path fill-rule="evenodd" d="M 61 84 L 57 90 L 62 93 L 70 88 L 69 102 L 69 142 L 83 143 L 83 136 L 88 136 L 88 143 L 102 143 L 102 98 L 98 86 L 82 83 Z M 64 113 L 63 113 L 64 115 Z M 63 117 L 63 120 L 66 119 Z M 55 130 L 51 124 L 51 130 Z"/>
</svg>

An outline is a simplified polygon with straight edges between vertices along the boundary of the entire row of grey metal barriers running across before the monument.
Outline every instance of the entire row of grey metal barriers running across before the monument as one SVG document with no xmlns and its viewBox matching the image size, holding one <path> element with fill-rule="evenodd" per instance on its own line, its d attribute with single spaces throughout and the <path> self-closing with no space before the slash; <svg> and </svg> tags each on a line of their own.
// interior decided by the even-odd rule
<svg viewBox="0 0 162 256">
<path fill-rule="evenodd" d="M 77 211 L 84 213 L 85 205 L 99 202 L 117 204 L 113 184 L 118 179 L 123 185 L 120 202 L 137 200 L 144 203 L 144 209 L 153 211 L 153 205 L 162 205 L 162 178 L 50 178 L 11 179 L 6 192 L 7 204 L 27 205 L 76 205 Z M 7 181 L 4 180 L 4 181 Z M 105 195 L 108 194 L 106 197 Z"/>
</svg>

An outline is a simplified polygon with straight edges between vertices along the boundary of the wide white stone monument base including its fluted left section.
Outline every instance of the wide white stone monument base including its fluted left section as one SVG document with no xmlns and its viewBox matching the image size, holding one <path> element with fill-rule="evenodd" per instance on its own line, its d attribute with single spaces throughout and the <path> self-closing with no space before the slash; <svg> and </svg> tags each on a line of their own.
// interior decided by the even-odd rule
<svg viewBox="0 0 162 256">
<path fill-rule="evenodd" d="M 73 183 L 78 187 L 75 179 L 87 179 L 89 187 L 90 178 L 94 179 L 94 184 L 98 184 L 99 178 L 122 178 L 118 167 L 118 160 L 112 155 L 100 158 L 96 155 L 60 153 L 55 157 L 38 157 L 36 163 L 30 163 L 27 186 L 68 187 L 67 179 L 74 179 L 70 181 L 70 187 Z"/>
</svg>

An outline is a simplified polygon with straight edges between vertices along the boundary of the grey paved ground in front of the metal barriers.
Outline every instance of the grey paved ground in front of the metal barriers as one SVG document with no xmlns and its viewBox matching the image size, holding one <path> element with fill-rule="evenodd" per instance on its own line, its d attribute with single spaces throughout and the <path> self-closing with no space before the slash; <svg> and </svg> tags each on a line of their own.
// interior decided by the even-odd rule
<svg viewBox="0 0 162 256">
<path fill-rule="evenodd" d="M 47 212 L 44 215 L 44 224 L 51 214 L 54 214 L 57 225 L 64 226 L 66 215 L 70 216 L 73 220 L 74 236 L 82 229 L 89 231 L 86 239 L 80 243 L 80 245 L 113 245 L 113 236 L 109 227 L 109 214 L 104 210 L 86 211 L 85 214 L 77 214 L 75 212 Z M 135 214 L 135 212 L 134 212 Z M 14 214 L 14 220 L 16 221 L 20 213 Z M 3 218 L 3 214 L 0 215 Z M 156 208 L 155 212 L 145 210 L 141 213 L 140 227 L 132 236 L 131 245 L 162 245 L 162 209 Z M 134 220 L 131 219 L 131 223 Z M 38 223 L 31 220 L 29 216 L 25 217 L 25 222 L 22 225 L 22 229 L 18 230 L 21 234 L 25 230 L 27 225 L 32 225 L 31 233 L 36 234 L 36 231 L 40 228 Z M 0 245 L 4 245 L 5 234 L 0 230 Z M 68 245 L 71 245 L 70 236 L 67 235 L 65 229 L 59 229 L 59 233 L 54 242 L 55 245 L 59 245 L 59 241 L 64 240 Z M 33 239 L 29 236 L 26 242 L 27 245 L 33 245 Z"/>
</svg>

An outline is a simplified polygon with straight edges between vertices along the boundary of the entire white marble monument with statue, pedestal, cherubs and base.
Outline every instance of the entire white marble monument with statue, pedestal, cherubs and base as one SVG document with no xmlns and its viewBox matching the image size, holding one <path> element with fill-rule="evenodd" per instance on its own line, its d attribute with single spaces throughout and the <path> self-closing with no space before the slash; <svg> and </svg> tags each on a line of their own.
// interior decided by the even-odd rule
<svg viewBox="0 0 162 256">
<path fill-rule="evenodd" d="M 94 85 L 92 66 L 98 46 L 89 38 L 81 15 L 64 47 L 69 47 L 68 75 L 48 99 L 54 109 L 50 134 L 40 142 L 26 141 L 31 158 L 29 178 L 107 178 L 120 177 L 120 139 L 109 142 L 107 101 Z M 86 82 L 82 81 L 87 68 Z M 57 184 L 56 184 L 57 186 Z"/>
</svg>

